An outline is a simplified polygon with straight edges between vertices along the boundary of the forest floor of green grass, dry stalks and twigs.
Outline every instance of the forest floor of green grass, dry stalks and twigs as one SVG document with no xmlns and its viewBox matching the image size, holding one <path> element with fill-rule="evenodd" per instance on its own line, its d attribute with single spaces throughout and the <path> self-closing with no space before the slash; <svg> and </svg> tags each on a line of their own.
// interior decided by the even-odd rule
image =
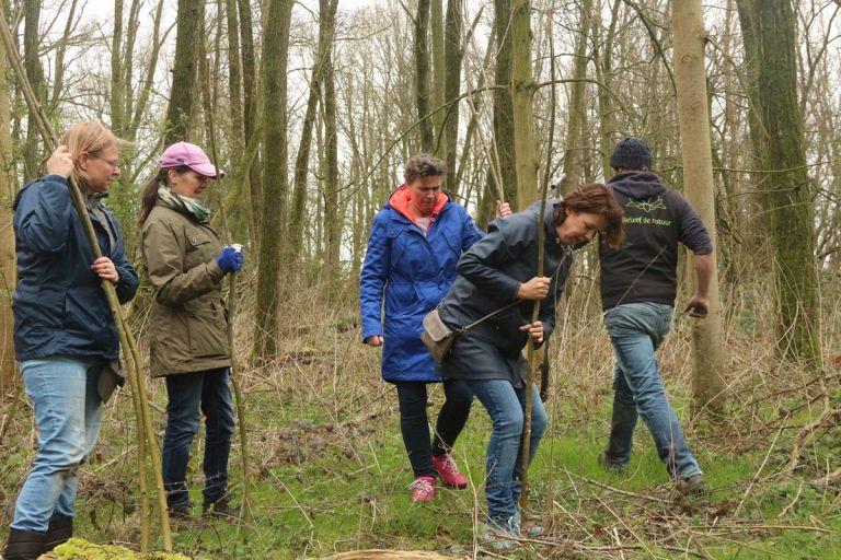
<svg viewBox="0 0 841 560">
<path fill-rule="evenodd" d="M 583 305 L 591 305 L 585 303 Z M 176 551 L 195 558 L 322 558 L 359 549 L 428 550 L 457 558 L 495 555 L 476 538 L 489 421 L 475 404 L 454 455 L 466 490 L 438 490 L 427 505 L 408 501 L 413 478 L 399 430 L 396 395 L 379 377 L 378 350 L 359 343 L 352 302 L 329 307 L 302 295 L 286 317 L 270 365 L 246 369 L 256 522 L 196 521 L 175 526 Z M 754 310 L 756 311 L 756 310 Z M 833 310 L 837 311 L 837 310 Z M 579 317 L 587 316 L 589 319 Z M 764 325 L 735 310 L 726 330 L 728 399 L 717 424 L 690 423 L 690 319 L 679 316 L 661 349 L 667 390 L 687 427 L 708 491 L 672 491 L 644 424 L 624 476 L 603 471 L 612 401 L 612 360 L 598 313 L 572 310 L 551 351 L 550 427 L 531 469 L 529 523 L 543 533 L 504 558 L 841 558 L 839 325 L 827 326 L 826 371 L 783 366 Z M 839 314 L 832 314 L 839 317 Z M 243 351 L 251 317 L 237 320 Z M 150 384 L 162 433 L 165 389 Z M 430 415 L 440 388 L 431 390 Z M 2 410 L 10 410 L 10 400 Z M 0 538 L 31 464 L 35 431 L 25 398 L 0 442 Z M 810 422 L 815 429 L 803 430 Z M 106 407 L 96 450 L 81 468 L 77 535 L 96 542 L 139 540 L 133 408 L 127 390 Z M 201 501 L 204 433 L 196 438 L 191 490 Z M 242 497 L 239 439 L 231 490 Z M 153 528 L 157 533 L 157 527 Z M 155 546 L 160 548 L 158 539 Z"/>
</svg>

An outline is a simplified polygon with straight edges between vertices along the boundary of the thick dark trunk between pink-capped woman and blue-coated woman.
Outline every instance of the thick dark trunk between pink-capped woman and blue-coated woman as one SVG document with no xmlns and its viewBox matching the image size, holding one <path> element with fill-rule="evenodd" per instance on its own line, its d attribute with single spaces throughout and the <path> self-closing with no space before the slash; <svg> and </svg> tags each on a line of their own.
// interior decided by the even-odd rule
<svg viewBox="0 0 841 560">
<path fill-rule="evenodd" d="M 288 190 L 288 140 L 287 140 L 287 84 L 286 69 L 289 54 L 289 26 L 291 24 L 292 0 L 269 0 L 266 25 L 263 32 L 263 84 L 265 150 L 273 160 L 264 162 L 265 190 L 263 208 L 270 208 L 263 217 L 260 229 L 256 331 L 254 352 L 262 359 L 277 354 L 278 335 L 278 288 L 280 280 L 281 244 L 278 232 L 283 230 L 286 217 L 286 194 Z M 293 232 L 299 234 L 298 232 Z"/>
</svg>

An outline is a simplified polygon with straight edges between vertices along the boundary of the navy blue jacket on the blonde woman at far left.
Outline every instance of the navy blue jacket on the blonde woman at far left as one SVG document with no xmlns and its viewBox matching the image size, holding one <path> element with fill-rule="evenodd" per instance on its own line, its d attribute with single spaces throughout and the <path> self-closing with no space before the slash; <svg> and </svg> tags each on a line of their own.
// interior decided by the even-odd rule
<svg viewBox="0 0 841 560">
<path fill-rule="evenodd" d="M 102 255 L 114 262 L 119 275 L 117 298 L 126 303 L 137 292 L 137 275 L 126 258 L 117 219 L 100 200 L 88 201 L 88 215 Z M 90 268 L 93 250 L 70 201 L 67 179 L 46 175 L 21 189 L 14 199 L 14 236 L 15 359 L 71 355 L 116 360 L 117 329 L 100 278 Z"/>
</svg>

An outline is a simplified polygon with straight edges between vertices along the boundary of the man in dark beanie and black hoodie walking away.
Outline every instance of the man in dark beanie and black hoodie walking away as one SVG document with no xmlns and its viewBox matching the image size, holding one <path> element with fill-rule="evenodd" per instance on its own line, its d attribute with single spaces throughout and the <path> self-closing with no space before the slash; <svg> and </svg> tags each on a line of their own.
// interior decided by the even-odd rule
<svg viewBox="0 0 841 560">
<path fill-rule="evenodd" d="M 625 211 L 626 237 L 618 250 L 599 246 L 601 305 L 617 358 L 610 441 L 599 462 L 613 471 L 627 468 L 642 416 L 678 490 L 696 492 L 703 489 L 703 476 L 664 390 L 655 352 L 675 312 L 678 242 L 694 254 L 696 291 L 686 311 L 695 318 L 708 311 L 713 246 L 689 202 L 649 171 L 652 151 L 643 140 L 620 141 L 610 166 L 608 184 Z"/>
</svg>

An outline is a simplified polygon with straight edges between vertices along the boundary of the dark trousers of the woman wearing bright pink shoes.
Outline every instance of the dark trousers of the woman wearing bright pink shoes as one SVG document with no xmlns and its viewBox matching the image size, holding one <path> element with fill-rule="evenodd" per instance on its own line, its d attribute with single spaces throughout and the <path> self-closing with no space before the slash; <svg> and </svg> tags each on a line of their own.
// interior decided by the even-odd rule
<svg viewBox="0 0 841 560">
<path fill-rule="evenodd" d="M 470 416 L 473 393 L 459 380 L 443 382 L 445 402 L 438 412 L 435 438 L 429 441 L 426 417 L 426 383 L 396 382 L 400 400 L 400 431 L 415 477 L 434 477 L 433 455 L 449 453 Z"/>
</svg>

